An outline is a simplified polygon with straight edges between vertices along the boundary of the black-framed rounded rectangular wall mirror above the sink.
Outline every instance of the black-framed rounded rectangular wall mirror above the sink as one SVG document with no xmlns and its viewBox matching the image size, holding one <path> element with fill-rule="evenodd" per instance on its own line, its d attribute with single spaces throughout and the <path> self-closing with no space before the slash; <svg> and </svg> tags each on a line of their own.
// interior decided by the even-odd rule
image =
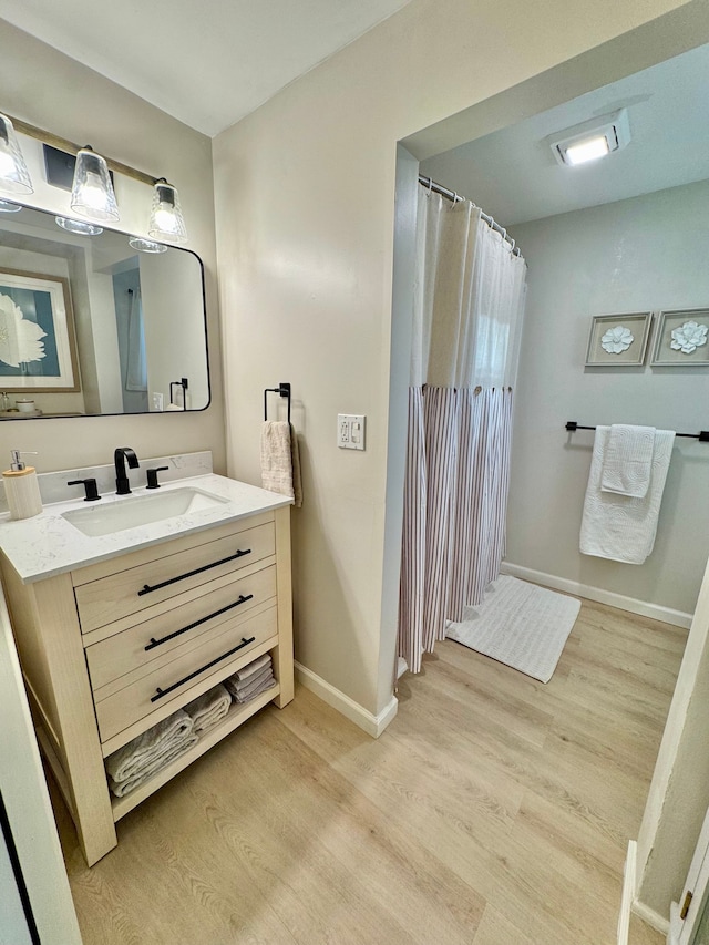
<svg viewBox="0 0 709 945">
<path fill-rule="evenodd" d="M 0 419 L 208 407 L 202 261 L 130 239 L 0 213 Z"/>
</svg>

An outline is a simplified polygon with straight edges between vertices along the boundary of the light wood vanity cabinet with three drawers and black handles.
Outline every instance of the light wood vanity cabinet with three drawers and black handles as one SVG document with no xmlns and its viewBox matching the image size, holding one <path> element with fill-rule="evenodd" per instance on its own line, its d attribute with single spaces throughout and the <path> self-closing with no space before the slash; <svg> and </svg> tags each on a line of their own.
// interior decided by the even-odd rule
<svg viewBox="0 0 709 945">
<path fill-rule="evenodd" d="M 2 573 L 38 737 L 86 862 L 115 822 L 270 701 L 292 699 L 290 510 L 275 509 L 23 584 Z M 277 686 L 124 798 L 104 758 L 270 653 Z"/>
</svg>

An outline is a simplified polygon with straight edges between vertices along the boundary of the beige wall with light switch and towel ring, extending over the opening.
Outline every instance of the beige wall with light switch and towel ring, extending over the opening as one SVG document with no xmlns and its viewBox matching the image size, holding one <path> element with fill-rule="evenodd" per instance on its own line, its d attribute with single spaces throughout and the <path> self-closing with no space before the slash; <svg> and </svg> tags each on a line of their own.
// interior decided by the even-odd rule
<svg viewBox="0 0 709 945">
<path fill-rule="evenodd" d="M 290 381 L 297 656 L 370 712 L 390 699 L 398 593 L 382 579 L 395 143 L 681 6 L 412 0 L 215 138 L 229 469 L 258 482 L 261 390 Z M 548 107 L 562 89 L 542 91 Z M 366 452 L 337 449 L 338 412 L 368 415 Z"/>
</svg>

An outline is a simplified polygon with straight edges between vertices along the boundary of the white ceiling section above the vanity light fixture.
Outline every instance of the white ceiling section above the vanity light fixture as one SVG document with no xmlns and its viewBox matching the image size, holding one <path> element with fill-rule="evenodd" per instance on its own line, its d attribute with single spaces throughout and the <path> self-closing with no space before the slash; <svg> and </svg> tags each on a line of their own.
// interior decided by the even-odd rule
<svg viewBox="0 0 709 945">
<path fill-rule="evenodd" d="M 409 0 L 0 0 L 0 17 L 207 135 Z"/>
</svg>

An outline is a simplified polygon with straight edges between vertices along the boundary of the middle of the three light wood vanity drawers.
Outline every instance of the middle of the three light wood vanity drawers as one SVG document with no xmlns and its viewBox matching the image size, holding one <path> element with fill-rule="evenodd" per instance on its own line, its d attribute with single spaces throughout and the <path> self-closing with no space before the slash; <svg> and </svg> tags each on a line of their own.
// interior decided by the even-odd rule
<svg viewBox="0 0 709 945">
<path fill-rule="evenodd" d="M 203 588 L 199 588 L 201 590 Z M 181 647 L 192 648 L 207 634 L 220 634 L 237 626 L 249 612 L 276 597 L 276 566 L 226 585 L 208 584 L 199 597 L 181 595 L 172 610 L 114 634 L 86 647 L 91 687 L 95 691 L 127 672 L 155 662 L 169 662 Z"/>
</svg>

